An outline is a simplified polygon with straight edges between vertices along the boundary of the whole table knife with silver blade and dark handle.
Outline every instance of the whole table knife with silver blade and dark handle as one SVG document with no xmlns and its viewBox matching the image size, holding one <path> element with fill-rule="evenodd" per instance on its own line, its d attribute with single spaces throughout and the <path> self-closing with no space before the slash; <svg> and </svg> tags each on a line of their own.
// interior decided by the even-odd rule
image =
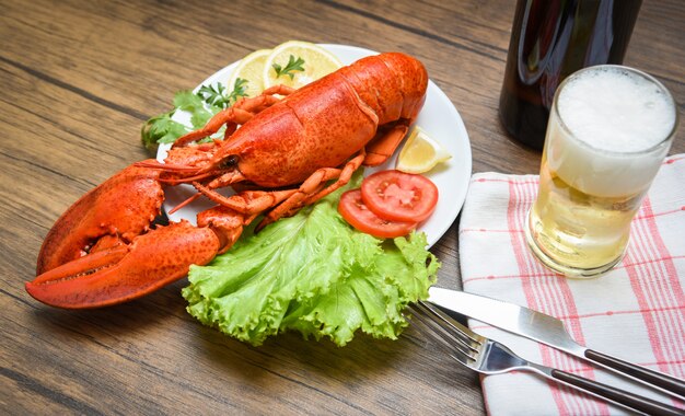
<svg viewBox="0 0 685 416">
<path fill-rule="evenodd" d="M 548 345 L 685 400 L 685 381 L 580 345 L 571 338 L 564 323 L 554 316 L 514 303 L 438 287 L 429 289 L 428 300 L 440 308 Z"/>
</svg>

